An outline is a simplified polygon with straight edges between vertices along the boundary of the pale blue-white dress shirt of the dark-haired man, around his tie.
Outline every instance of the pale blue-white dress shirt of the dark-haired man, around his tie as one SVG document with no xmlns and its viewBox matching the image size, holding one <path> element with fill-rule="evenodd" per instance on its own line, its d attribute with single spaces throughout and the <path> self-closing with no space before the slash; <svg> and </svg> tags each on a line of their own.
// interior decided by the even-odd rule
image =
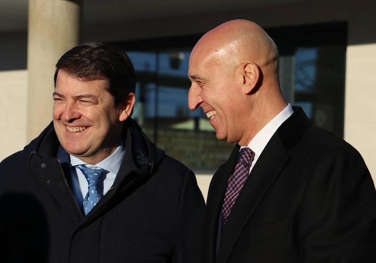
<svg viewBox="0 0 376 263">
<path fill-rule="evenodd" d="M 109 173 L 106 174 L 105 179 L 103 181 L 103 195 L 105 195 L 108 192 L 108 190 L 111 188 L 111 186 L 114 184 L 115 177 L 119 171 L 120 165 L 122 164 L 124 154 L 125 154 L 125 147 L 124 147 L 124 144 L 122 143 L 115 150 L 115 152 L 112 153 L 112 155 L 98 162 L 97 164 L 94 164 L 95 166 L 98 166 L 100 168 L 103 168 L 109 171 Z M 72 155 L 69 155 L 69 157 L 70 157 L 70 164 L 72 166 L 75 166 L 78 164 L 87 164 L 86 162 Z M 88 183 L 87 183 L 86 177 L 85 175 L 83 175 L 80 169 L 76 168 L 76 172 L 77 172 L 78 182 L 81 188 L 83 198 L 85 198 L 88 192 Z"/>
</svg>

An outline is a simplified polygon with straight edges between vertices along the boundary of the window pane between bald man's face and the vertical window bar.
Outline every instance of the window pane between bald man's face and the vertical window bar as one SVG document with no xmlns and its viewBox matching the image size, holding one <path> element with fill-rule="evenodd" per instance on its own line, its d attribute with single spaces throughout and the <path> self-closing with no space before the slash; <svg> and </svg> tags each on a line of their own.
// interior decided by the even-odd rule
<svg viewBox="0 0 376 263">
<path fill-rule="evenodd" d="M 233 145 L 217 140 L 200 108 L 188 109 L 189 54 L 184 49 L 158 54 L 157 145 L 195 171 L 213 170 Z"/>
</svg>

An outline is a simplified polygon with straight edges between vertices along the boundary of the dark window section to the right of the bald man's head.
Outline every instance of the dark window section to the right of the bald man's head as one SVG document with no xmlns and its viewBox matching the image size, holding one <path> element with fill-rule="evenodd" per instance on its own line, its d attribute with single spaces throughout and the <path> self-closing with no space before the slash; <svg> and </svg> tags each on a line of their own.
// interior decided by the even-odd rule
<svg viewBox="0 0 376 263">
<path fill-rule="evenodd" d="M 279 53 L 286 101 L 301 106 L 313 125 L 343 136 L 347 24 L 267 30 Z"/>
</svg>

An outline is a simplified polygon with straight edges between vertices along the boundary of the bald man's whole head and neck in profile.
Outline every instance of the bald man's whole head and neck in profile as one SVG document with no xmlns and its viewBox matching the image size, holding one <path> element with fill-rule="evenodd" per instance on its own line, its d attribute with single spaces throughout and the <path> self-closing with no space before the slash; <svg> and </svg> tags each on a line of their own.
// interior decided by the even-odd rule
<svg viewBox="0 0 376 263">
<path fill-rule="evenodd" d="M 247 145 L 285 106 L 278 50 L 257 24 L 232 20 L 207 32 L 189 57 L 188 106 L 201 107 L 219 140 Z"/>
</svg>

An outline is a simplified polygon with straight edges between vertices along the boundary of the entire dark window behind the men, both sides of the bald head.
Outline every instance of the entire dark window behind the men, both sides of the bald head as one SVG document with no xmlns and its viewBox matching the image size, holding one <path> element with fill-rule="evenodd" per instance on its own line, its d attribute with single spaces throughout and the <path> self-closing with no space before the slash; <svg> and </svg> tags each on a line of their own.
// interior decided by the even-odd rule
<svg viewBox="0 0 376 263">
<path fill-rule="evenodd" d="M 313 124 L 343 135 L 346 23 L 266 30 L 280 53 L 286 101 L 303 107 Z M 118 43 L 136 70 L 132 117 L 166 154 L 195 172 L 212 172 L 234 145 L 218 141 L 206 115 L 188 109 L 188 61 L 200 38 L 183 36 Z"/>
</svg>

